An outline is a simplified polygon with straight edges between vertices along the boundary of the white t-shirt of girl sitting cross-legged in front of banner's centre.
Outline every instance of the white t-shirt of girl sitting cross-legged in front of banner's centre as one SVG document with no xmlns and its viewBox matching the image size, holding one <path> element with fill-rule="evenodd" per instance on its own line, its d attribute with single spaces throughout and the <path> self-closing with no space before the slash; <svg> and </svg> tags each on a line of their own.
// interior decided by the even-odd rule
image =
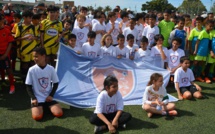
<svg viewBox="0 0 215 134">
<path fill-rule="evenodd" d="M 97 100 L 94 113 L 110 114 L 119 110 L 123 110 L 123 99 L 119 91 L 110 97 L 106 90 L 103 90 Z"/>
</svg>

